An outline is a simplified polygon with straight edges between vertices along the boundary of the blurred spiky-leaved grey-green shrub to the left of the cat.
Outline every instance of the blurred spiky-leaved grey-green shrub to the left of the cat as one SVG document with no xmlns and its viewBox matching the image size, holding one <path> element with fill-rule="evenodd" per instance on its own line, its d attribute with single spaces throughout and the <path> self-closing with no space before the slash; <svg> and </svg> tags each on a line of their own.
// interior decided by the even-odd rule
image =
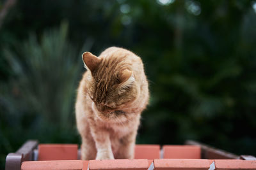
<svg viewBox="0 0 256 170">
<path fill-rule="evenodd" d="M 13 152 L 12 146 L 26 139 L 78 142 L 74 101 L 83 64 L 81 50 L 68 42 L 67 29 L 63 22 L 41 38 L 32 34 L 16 52 L 4 50 L 13 76 L 1 84 L 1 154 Z M 91 45 L 87 41 L 83 50 Z"/>
</svg>

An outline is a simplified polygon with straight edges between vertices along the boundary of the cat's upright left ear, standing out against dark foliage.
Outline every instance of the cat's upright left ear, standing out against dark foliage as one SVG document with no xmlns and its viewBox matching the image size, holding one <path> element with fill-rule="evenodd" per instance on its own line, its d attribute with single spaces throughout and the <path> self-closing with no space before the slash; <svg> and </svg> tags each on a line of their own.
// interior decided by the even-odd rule
<svg viewBox="0 0 256 170">
<path fill-rule="evenodd" d="M 101 62 L 101 59 L 90 52 L 84 52 L 82 58 L 84 61 L 84 66 L 86 69 L 90 69 L 91 72 L 93 72 Z"/>
</svg>

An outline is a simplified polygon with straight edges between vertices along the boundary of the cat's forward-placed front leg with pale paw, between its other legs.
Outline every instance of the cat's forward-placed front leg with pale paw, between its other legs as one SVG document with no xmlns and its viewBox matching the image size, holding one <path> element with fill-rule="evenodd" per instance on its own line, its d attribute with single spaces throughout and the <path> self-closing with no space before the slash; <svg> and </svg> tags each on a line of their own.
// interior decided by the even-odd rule
<svg viewBox="0 0 256 170">
<path fill-rule="evenodd" d="M 97 148 L 97 160 L 114 159 L 108 131 L 98 129 L 97 132 L 93 133 L 93 139 Z"/>
</svg>

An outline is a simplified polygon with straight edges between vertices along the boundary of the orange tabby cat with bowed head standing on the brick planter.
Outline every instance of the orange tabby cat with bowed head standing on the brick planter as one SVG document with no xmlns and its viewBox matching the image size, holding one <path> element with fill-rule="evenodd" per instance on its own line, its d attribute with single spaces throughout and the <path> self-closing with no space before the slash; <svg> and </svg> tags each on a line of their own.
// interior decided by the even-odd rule
<svg viewBox="0 0 256 170">
<path fill-rule="evenodd" d="M 82 159 L 133 159 L 141 111 L 148 104 L 148 82 L 140 57 L 110 47 L 99 57 L 83 53 L 83 61 L 88 71 L 76 100 Z"/>
</svg>

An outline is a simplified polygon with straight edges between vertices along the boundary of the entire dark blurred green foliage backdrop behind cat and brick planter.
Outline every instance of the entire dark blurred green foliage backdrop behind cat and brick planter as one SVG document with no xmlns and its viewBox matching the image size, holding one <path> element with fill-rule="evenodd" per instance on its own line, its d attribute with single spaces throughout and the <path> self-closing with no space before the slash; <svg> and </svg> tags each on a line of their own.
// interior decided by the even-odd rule
<svg viewBox="0 0 256 170">
<path fill-rule="evenodd" d="M 80 143 L 81 54 L 145 63 L 137 143 L 195 139 L 256 155 L 256 1 L 0 1 L 0 160 L 28 139 Z"/>
</svg>

